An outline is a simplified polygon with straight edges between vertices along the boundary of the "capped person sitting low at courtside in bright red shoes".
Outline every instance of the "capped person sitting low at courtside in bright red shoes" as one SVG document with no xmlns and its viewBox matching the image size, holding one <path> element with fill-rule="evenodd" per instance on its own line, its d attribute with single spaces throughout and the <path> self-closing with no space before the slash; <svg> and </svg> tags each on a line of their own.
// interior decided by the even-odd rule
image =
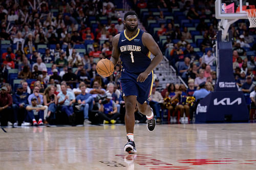
<svg viewBox="0 0 256 170">
<path fill-rule="evenodd" d="M 44 110 L 46 108 L 40 104 L 37 104 L 37 98 L 30 99 L 30 105 L 26 107 L 28 111 L 28 120 L 33 126 L 44 125 Z"/>
</svg>

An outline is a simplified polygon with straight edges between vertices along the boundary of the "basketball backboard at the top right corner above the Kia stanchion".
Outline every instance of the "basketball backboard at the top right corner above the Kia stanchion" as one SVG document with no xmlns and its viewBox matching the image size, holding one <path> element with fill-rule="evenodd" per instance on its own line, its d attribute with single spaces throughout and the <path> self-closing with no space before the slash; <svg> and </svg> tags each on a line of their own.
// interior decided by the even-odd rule
<svg viewBox="0 0 256 170">
<path fill-rule="evenodd" d="M 246 9 L 254 9 L 256 0 L 216 0 L 215 17 L 217 19 L 248 19 Z"/>
</svg>

